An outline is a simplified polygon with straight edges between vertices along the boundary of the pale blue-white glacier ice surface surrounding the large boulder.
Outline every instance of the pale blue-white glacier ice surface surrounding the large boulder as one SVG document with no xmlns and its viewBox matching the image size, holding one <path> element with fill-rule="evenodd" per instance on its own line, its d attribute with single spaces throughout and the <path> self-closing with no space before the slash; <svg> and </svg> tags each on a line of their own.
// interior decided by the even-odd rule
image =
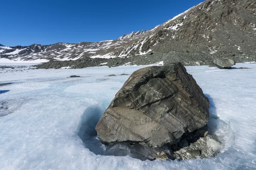
<svg viewBox="0 0 256 170">
<path fill-rule="evenodd" d="M 0 169 L 256 169 L 256 64 L 235 66 L 251 69 L 186 67 L 209 98 L 209 129 L 223 143 L 215 158 L 189 161 L 102 156 L 95 125 L 129 77 L 120 74 L 145 66 L 3 71 L 0 82 L 13 84 L 0 86 Z"/>
</svg>

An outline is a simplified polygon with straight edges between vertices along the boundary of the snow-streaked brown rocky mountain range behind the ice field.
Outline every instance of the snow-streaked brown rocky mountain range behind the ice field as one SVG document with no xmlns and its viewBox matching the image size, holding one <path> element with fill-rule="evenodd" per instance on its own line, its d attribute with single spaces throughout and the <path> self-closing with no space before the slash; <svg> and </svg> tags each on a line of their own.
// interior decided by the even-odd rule
<svg viewBox="0 0 256 170">
<path fill-rule="evenodd" d="M 148 56 L 152 60 L 147 62 L 204 64 L 215 57 L 233 56 L 237 61 L 252 61 L 256 58 L 255 24 L 255 0 L 206 0 L 160 26 L 117 40 L 8 47 L 0 49 L 0 58 L 67 61 L 119 57 L 132 61 Z"/>
</svg>

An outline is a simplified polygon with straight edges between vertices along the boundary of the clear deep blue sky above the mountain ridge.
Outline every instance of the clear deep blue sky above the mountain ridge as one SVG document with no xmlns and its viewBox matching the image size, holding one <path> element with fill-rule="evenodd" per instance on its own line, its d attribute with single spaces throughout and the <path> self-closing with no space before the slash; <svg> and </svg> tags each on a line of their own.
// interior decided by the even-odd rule
<svg viewBox="0 0 256 170">
<path fill-rule="evenodd" d="M 148 30 L 204 0 L 2 0 L 0 44 L 78 43 Z"/>
</svg>

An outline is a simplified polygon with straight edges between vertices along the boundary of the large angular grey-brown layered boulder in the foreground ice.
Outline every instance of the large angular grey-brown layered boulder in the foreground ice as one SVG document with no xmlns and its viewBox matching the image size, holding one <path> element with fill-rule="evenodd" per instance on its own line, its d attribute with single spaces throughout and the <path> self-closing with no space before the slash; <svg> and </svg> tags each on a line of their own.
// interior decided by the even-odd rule
<svg viewBox="0 0 256 170">
<path fill-rule="evenodd" d="M 148 147 L 176 144 L 205 127 L 209 100 L 181 63 L 135 71 L 100 118 L 96 131 L 106 143 Z"/>
</svg>

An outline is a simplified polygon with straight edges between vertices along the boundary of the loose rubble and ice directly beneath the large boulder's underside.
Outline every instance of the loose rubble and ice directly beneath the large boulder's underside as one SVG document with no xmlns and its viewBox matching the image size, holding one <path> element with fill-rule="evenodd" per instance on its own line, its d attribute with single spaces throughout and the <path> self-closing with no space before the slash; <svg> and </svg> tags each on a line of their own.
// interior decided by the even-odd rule
<svg viewBox="0 0 256 170">
<path fill-rule="evenodd" d="M 221 142 L 215 135 L 200 136 L 196 133 L 184 134 L 177 144 L 164 144 L 162 147 L 148 147 L 145 144 L 122 142 L 106 144 L 107 155 L 126 156 L 140 160 L 154 161 L 159 159 L 190 160 L 210 158 L 220 152 Z"/>
</svg>

